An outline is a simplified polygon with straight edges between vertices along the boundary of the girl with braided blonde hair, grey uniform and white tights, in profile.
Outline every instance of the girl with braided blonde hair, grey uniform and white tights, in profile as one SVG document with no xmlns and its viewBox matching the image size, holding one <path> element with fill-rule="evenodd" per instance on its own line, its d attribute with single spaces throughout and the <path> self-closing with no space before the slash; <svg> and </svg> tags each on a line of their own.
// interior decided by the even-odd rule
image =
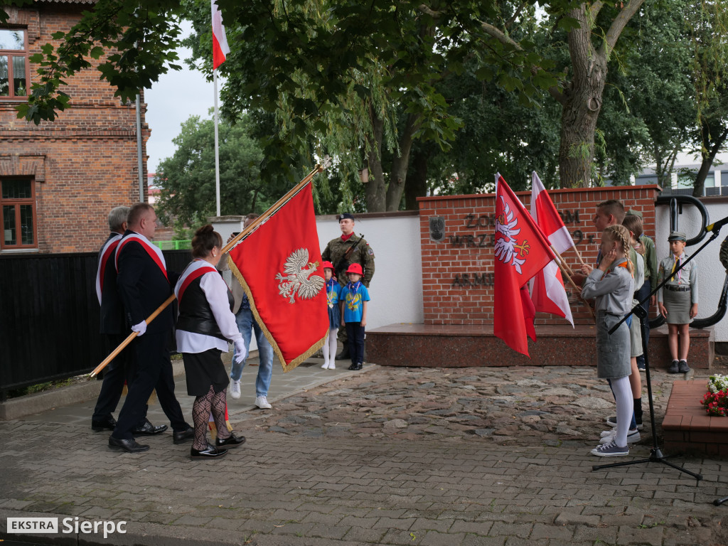
<svg viewBox="0 0 728 546">
<path fill-rule="evenodd" d="M 601 234 L 603 258 L 596 269 L 583 265 L 588 274 L 582 298 L 596 298 L 597 375 L 609 381 L 617 400 L 617 427 L 608 443 L 591 453 L 600 457 L 628 455 L 627 432 L 633 413 L 630 388 L 630 330 L 625 321 L 612 335 L 614 327 L 631 309 L 634 293 L 634 266 L 629 255 L 630 232 L 625 226 L 609 226 Z"/>
</svg>

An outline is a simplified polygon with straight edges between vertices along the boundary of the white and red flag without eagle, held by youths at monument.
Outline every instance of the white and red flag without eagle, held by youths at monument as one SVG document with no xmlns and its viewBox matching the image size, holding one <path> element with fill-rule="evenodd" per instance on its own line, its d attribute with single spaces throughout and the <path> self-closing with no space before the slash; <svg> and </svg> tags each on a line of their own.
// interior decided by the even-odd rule
<svg viewBox="0 0 728 546">
<path fill-rule="evenodd" d="M 531 216 L 556 252 L 561 254 L 574 246 L 569 230 L 535 170 L 531 173 Z M 561 270 L 555 261 L 550 261 L 531 281 L 531 299 L 537 311 L 563 317 L 574 326 L 569 296 L 566 296 Z"/>
</svg>

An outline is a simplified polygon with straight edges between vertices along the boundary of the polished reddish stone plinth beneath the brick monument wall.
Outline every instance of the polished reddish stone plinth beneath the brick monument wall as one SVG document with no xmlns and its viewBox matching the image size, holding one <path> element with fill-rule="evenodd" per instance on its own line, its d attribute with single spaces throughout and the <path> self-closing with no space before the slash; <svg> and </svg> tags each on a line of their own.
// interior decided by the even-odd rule
<svg viewBox="0 0 728 546">
<path fill-rule="evenodd" d="M 596 366 L 593 325 L 536 327 L 537 343 L 529 340 L 529 355 L 510 349 L 493 334 L 491 325 L 392 324 L 367 331 L 367 360 L 389 366 Z M 668 327 L 650 334 L 649 363 L 670 365 Z M 690 331 L 692 368 L 711 368 L 715 358 L 713 328 Z"/>
</svg>

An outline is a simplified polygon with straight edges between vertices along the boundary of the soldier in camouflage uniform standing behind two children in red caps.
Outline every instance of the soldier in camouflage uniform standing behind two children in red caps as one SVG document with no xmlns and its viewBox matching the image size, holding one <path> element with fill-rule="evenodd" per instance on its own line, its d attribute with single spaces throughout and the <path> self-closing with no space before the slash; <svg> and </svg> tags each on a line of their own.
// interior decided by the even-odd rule
<svg viewBox="0 0 728 546">
<path fill-rule="evenodd" d="M 331 261 L 333 264 L 336 280 L 341 286 L 347 284 L 346 271 L 351 264 L 360 264 L 364 270 L 362 283 L 369 288 L 371 278 L 374 276 L 374 251 L 360 236 L 354 233 L 354 216 L 349 213 L 339 215 L 339 227 L 341 228 L 341 237 L 336 237 L 328 242 L 326 248 L 321 253 L 321 258 Z M 352 249 L 347 256 L 347 251 Z M 339 328 L 339 341 L 344 344 L 344 349 L 336 355 L 336 360 L 345 360 L 349 358 L 349 344 L 347 343 L 347 331 Z"/>
</svg>

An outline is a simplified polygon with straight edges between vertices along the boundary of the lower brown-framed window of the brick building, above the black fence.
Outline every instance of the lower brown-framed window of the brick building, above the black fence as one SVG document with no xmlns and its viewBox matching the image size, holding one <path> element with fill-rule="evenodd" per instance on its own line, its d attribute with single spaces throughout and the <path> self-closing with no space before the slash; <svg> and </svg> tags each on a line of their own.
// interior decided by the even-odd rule
<svg viewBox="0 0 728 546">
<path fill-rule="evenodd" d="M 31 180 L 0 180 L 0 248 L 36 248 L 36 193 Z"/>
</svg>

